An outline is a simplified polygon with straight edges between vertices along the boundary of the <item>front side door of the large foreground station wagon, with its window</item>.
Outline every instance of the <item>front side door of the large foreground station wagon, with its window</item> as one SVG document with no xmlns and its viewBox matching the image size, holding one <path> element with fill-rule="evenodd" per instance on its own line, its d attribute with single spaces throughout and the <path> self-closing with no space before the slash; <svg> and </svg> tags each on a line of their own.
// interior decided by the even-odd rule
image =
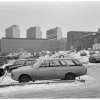
<svg viewBox="0 0 100 100">
<path fill-rule="evenodd" d="M 36 79 L 54 79 L 54 65 L 50 65 L 50 60 L 45 60 L 36 70 Z"/>
</svg>

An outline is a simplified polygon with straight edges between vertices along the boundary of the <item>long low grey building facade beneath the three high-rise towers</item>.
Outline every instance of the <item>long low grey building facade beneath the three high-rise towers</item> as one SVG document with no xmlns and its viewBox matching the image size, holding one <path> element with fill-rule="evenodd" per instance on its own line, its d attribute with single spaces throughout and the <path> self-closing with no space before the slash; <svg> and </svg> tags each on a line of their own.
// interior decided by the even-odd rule
<svg viewBox="0 0 100 100">
<path fill-rule="evenodd" d="M 28 52 L 66 50 L 66 44 L 57 40 L 2 38 L 0 40 L 1 53 L 15 53 L 21 50 Z"/>
</svg>

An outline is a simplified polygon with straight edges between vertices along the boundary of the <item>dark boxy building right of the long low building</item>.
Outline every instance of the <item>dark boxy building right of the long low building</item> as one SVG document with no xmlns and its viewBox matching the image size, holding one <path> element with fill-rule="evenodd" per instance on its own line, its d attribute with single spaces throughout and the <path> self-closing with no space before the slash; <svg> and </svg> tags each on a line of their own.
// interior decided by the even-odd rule
<svg viewBox="0 0 100 100">
<path fill-rule="evenodd" d="M 96 32 L 69 31 L 67 33 L 67 49 L 85 49 L 94 43 Z M 90 39 L 91 38 L 91 39 Z"/>
</svg>

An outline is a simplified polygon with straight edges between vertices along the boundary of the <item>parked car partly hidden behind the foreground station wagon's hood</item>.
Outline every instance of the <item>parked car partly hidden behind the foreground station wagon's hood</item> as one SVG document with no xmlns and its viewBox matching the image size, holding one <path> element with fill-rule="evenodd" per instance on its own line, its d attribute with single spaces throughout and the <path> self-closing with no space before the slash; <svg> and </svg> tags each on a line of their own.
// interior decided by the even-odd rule
<svg viewBox="0 0 100 100">
<path fill-rule="evenodd" d="M 10 61 L 8 64 L 5 64 L 2 66 L 3 69 L 7 70 L 8 72 L 11 72 L 13 69 L 23 67 L 23 66 L 28 66 L 28 65 L 33 65 L 36 60 L 34 59 L 18 59 L 18 60 L 13 60 Z"/>
</svg>

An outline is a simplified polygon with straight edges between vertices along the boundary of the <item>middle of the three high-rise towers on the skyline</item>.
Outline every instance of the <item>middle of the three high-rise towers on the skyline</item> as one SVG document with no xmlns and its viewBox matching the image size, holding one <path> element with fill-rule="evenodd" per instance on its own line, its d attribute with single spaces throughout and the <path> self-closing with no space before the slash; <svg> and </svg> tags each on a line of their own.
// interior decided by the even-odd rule
<svg viewBox="0 0 100 100">
<path fill-rule="evenodd" d="M 37 27 L 30 27 L 29 29 L 27 29 L 27 38 L 29 39 L 41 39 L 42 38 L 42 31 L 41 28 L 39 26 Z"/>
</svg>

